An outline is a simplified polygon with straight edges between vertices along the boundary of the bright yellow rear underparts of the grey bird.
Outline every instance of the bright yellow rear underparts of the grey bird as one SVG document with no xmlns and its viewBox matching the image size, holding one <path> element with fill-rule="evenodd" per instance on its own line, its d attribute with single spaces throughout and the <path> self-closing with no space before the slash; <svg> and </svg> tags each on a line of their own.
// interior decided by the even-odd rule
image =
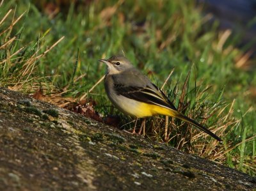
<svg viewBox="0 0 256 191">
<path fill-rule="evenodd" d="M 165 107 L 161 107 L 158 105 L 151 105 L 148 103 L 140 103 L 137 105 L 135 111 L 133 111 L 133 115 L 137 118 L 144 118 L 147 116 L 156 116 L 156 115 L 163 115 L 163 116 L 176 116 L 175 111 L 172 109 L 167 109 Z"/>
</svg>

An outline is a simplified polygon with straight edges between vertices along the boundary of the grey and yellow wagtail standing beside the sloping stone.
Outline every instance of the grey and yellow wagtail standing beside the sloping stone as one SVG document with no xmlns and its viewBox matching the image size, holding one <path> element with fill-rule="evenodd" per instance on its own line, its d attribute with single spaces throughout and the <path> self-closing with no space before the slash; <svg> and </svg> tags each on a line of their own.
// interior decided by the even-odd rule
<svg viewBox="0 0 256 191">
<path fill-rule="evenodd" d="M 120 111 L 136 118 L 156 115 L 179 118 L 222 142 L 220 137 L 210 130 L 177 111 L 163 91 L 152 84 L 148 77 L 134 68 L 125 57 L 113 56 L 109 59 L 99 59 L 99 61 L 106 63 L 108 66 L 104 86 L 109 100 Z"/>
</svg>

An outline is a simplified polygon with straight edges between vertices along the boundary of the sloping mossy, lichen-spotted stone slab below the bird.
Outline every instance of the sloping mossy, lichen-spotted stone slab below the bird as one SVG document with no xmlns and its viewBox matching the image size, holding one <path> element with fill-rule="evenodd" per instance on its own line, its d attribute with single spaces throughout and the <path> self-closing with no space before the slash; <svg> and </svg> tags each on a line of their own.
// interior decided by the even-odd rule
<svg viewBox="0 0 256 191">
<path fill-rule="evenodd" d="M 0 88 L 0 190 L 253 190 L 255 178 Z"/>
</svg>

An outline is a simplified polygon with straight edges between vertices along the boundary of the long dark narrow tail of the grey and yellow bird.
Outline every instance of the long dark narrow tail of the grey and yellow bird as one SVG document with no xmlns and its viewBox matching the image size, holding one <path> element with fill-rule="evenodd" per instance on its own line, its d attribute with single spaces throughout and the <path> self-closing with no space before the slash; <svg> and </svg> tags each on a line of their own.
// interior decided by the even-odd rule
<svg viewBox="0 0 256 191">
<path fill-rule="evenodd" d="M 171 115 L 170 115 L 171 116 Z M 207 128 L 205 128 L 204 126 L 200 125 L 199 123 L 197 123 L 196 121 L 194 121 L 193 119 L 188 118 L 187 116 L 184 116 L 183 114 L 181 114 L 178 111 L 173 111 L 172 112 L 172 116 L 175 118 L 179 118 L 182 119 L 188 123 L 190 123 L 191 125 L 196 126 L 197 128 L 199 128 L 200 130 L 202 130 L 203 132 L 205 132 L 208 135 L 211 135 L 211 137 L 213 137 L 214 139 L 223 142 L 220 137 L 218 137 L 217 135 L 215 135 L 214 133 L 212 133 L 210 130 L 208 130 Z"/>
</svg>

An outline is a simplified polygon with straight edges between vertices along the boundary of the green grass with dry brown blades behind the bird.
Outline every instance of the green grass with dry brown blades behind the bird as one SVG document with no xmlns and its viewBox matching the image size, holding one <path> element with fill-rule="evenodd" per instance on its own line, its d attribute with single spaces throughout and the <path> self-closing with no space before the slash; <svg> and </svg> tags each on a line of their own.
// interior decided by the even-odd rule
<svg viewBox="0 0 256 191">
<path fill-rule="evenodd" d="M 4 1 L 0 8 L 0 20 L 12 9 L 0 26 L 1 86 L 25 93 L 42 89 L 49 102 L 61 105 L 88 93 L 104 75 L 100 58 L 124 52 L 159 87 L 175 68 L 164 92 L 180 111 L 217 131 L 224 145 L 176 119 L 169 119 L 168 144 L 256 173 L 255 95 L 250 93 L 256 76 L 236 66 L 246 51 L 235 47 L 236 36 L 217 31 L 218 22 L 209 24 L 193 1 L 71 4 L 54 17 L 39 7 Z M 52 100 L 58 93 L 59 100 Z M 96 111 L 122 116 L 111 107 L 102 83 L 86 98 L 96 100 Z M 131 121 L 123 119 L 123 124 Z M 146 133 L 163 142 L 164 118 L 148 119 Z"/>
</svg>

